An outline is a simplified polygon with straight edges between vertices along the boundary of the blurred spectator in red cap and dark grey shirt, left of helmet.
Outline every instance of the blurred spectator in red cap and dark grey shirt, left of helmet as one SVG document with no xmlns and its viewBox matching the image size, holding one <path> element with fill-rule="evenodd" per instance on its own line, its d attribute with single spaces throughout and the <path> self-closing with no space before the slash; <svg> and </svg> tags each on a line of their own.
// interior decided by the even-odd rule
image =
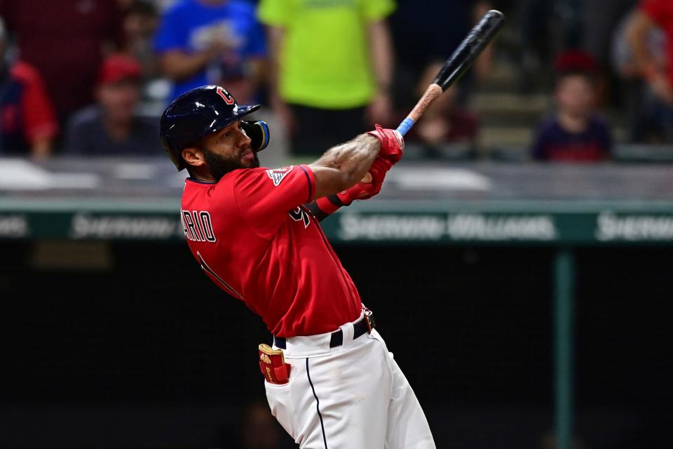
<svg viewBox="0 0 673 449">
<path fill-rule="evenodd" d="M 142 69 L 133 58 L 115 54 L 100 67 L 97 104 L 74 114 L 64 145 L 66 154 L 86 156 L 158 154 L 156 120 L 135 115 Z"/>
</svg>

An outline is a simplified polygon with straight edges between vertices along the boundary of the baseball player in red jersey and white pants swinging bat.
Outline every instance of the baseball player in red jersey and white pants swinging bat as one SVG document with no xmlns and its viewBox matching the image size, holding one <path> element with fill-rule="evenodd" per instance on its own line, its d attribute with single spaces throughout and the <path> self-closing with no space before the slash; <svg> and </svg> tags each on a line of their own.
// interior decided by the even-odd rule
<svg viewBox="0 0 673 449">
<path fill-rule="evenodd" d="M 302 449 L 435 448 L 319 224 L 379 192 L 402 157 L 402 136 L 377 125 L 313 163 L 263 168 L 257 152 L 268 128 L 244 120 L 259 107 L 238 105 L 219 86 L 193 89 L 165 109 L 161 141 L 189 172 L 181 218 L 191 253 L 273 335 L 273 347 L 259 345 L 271 413 Z"/>
</svg>

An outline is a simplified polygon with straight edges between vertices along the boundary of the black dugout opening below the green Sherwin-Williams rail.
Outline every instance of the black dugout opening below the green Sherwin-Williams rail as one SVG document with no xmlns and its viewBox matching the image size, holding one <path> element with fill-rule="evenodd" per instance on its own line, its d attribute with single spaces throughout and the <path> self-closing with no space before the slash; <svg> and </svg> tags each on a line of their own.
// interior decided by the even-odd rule
<svg viewBox="0 0 673 449">
<path fill-rule="evenodd" d="M 105 243 L 90 271 L 36 268 L 38 244 L 2 242 L 0 447 L 235 447 L 261 320 L 184 243 Z M 552 447 L 551 249 L 336 249 L 438 448 Z M 668 448 L 673 253 L 576 254 L 578 447 Z"/>
</svg>

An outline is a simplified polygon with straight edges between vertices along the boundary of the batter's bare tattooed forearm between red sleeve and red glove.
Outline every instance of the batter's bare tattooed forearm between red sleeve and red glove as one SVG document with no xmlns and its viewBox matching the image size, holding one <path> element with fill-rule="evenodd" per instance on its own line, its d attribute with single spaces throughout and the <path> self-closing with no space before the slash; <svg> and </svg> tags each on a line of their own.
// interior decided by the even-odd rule
<svg viewBox="0 0 673 449">
<path fill-rule="evenodd" d="M 315 197 L 336 194 L 362 180 L 380 150 L 379 140 L 368 134 L 328 149 L 311 164 L 316 177 Z"/>
</svg>

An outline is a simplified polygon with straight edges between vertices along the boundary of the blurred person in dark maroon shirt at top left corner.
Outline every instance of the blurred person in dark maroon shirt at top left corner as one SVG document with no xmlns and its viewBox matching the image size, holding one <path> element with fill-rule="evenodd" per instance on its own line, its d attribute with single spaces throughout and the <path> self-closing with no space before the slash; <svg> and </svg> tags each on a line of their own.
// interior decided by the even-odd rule
<svg viewBox="0 0 673 449">
<path fill-rule="evenodd" d="M 117 0 L 0 0 L 21 58 L 44 77 L 59 121 L 93 102 L 103 54 L 121 47 Z"/>
</svg>

